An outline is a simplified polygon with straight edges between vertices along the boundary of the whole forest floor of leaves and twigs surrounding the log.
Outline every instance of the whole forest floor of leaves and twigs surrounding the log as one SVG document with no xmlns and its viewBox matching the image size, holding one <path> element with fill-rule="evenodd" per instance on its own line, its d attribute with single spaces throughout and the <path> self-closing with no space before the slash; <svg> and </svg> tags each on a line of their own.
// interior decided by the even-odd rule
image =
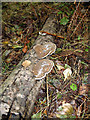
<svg viewBox="0 0 90 120">
<path fill-rule="evenodd" d="M 0 84 L 32 48 L 51 13 L 59 24 L 54 41 L 57 49 L 50 57 L 55 67 L 40 88 L 32 118 L 89 118 L 88 9 L 85 3 L 2 3 Z"/>
</svg>

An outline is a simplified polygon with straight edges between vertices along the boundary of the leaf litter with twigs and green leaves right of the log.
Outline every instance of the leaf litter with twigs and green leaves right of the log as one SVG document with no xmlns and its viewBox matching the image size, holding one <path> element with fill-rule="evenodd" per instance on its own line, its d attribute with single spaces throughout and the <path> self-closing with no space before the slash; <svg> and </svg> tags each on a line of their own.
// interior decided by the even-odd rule
<svg viewBox="0 0 90 120">
<path fill-rule="evenodd" d="M 77 4 L 77 6 L 79 5 Z M 79 9 L 81 9 L 81 7 L 85 9 L 84 8 L 85 6 L 83 4 L 79 6 Z M 76 9 L 75 12 L 77 13 Z M 79 15 L 77 16 L 78 20 L 82 19 L 84 13 L 81 12 L 79 13 L 80 16 Z M 62 12 L 59 12 L 58 16 L 60 17 L 61 14 Z M 65 13 L 64 16 L 67 17 Z M 85 19 L 86 18 L 88 18 L 88 14 L 85 17 Z M 68 25 L 67 26 L 65 25 L 70 24 L 71 21 L 72 18 L 69 21 L 69 23 L 68 21 L 64 21 L 65 23 L 63 23 L 62 21 L 61 24 L 63 24 L 63 27 L 62 29 L 60 29 L 59 35 L 64 36 L 64 38 L 66 36 L 66 39 L 64 41 L 63 39 L 56 37 L 55 43 L 57 45 L 57 49 L 55 54 L 50 56 L 50 59 L 54 61 L 55 66 L 52 72 L 48 75 L 49 106 L 47 104 L 47 100 L 44 101 L 44 99 L 47 96 L 45 87 L 46 83 L 44 83 L 41 86 L 39 95 L 37 97 L 37 101 L 34 104 L 34 108 L 37 108 L 37 111 L 34 109 L 32 116 L 36 115 L 36 113 L 39 112 L 40 114 L 39 118 L 89 117 L 88 109 L 89 61 L 87 54 L 88 48 L 86 47 L 89 44 L 89 42 L 86 40 L 86 35 L 88 36 L 88 32 L 87 30 L 84 29 L 87 26 L 87 24 L 85 20 L 83 20 L 82 23 L 78 22 L 77 19 L 76 21 L 73 20 L 74 23 L 71 24 L 72 25 L 71 30 L 75 29 L 77 30 L 76 32 L 74 31 L 73 35 L 69 35 L 68 39 L 67 36 L 70 30 L 67 33 L 67 31 L 66 30 L 64 31 L 63 29 L 65 27 L 66 29 L 68 29 Z M 80 29 L 79 27 L 77 28 L 78 23 L 79 25 L 81 24 Z M 80 41 L 84 42 L 84 44 L 82 45 L 82 42 Z M 87 82 L 85 82 L 85 80 Z M 40 104 L 41 102 L 42 105 Z"/>
</svg>

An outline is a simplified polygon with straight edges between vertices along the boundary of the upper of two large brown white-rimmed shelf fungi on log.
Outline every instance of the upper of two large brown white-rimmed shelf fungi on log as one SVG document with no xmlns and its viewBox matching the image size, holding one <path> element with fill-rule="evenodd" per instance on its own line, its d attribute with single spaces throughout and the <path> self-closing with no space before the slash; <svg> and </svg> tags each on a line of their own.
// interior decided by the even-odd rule
<svg viewBox="0 0 90 120">
<path fill-rule="evenodd" d="M 46 42 L 45 44 L 37 44 L 33 47 L 38 58 L 45 58 L 48 55 L 51 55 L 56 50 L 56 45 L 52 42 Z"/>
</svg>

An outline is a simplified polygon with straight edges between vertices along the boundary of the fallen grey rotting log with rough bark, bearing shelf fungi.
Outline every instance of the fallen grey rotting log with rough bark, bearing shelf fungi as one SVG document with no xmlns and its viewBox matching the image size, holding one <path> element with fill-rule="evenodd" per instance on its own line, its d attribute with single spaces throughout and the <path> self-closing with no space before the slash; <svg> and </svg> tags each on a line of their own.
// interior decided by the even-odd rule
<svg viewBox="0 0 90 120">
<path fill-rule="evenodd" d="M 52 14 L 47 19 L 42 31 L 47 31 L 51 34 L 55 33 L 57 29 L 55 15 Z M 51 35 L 41 36 L 36 39 L 35 44 L 43 44 L 44 42 L 53 42 L 54 38 Z M 30 60 L 31 64 L 27 68 L 24 68 L 21 64 L 24 60 Z M 44 81 L 36 81 L 32 74 L 32 66 L 38 60 L 36 53 L 33 49 L 29 50 L 24 58 L 17 65 L 11 75 L 5 80 L 0 87 L 0 115 L 19 113 L 25 117 L 30 117 L 36 96 L 39 88 Z M 7 110 L 5 109 L 7 108 Z"/>
</svg>

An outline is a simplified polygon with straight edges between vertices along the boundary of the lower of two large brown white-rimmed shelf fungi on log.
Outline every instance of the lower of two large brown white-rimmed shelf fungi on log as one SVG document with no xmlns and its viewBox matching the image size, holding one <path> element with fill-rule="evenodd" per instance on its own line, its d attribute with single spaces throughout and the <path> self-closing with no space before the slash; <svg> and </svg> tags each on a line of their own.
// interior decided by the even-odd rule
<svg viewBox="0 0 90 120">
<path fill-rule="evenodd" d="M 46 75 L 50 73 L 51 70 L 53 69 L 53 66 L 54 66 L 54 63 L 51 60 L 48 60 L 48 59 L 40 60 L 32 68 L 32 72 L 36 77 L 35 79 L 40 80 L 46 77 Z"/>
</svg>

